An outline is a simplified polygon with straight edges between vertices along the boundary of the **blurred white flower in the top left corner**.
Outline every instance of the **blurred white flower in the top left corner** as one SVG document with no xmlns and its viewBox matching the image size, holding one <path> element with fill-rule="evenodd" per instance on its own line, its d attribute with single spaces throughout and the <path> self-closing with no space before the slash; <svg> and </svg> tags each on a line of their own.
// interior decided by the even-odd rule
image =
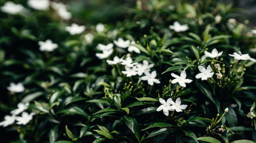
<svg viewBox="0 0 256 143">
<path fill-rule="evenodd" d="M 1 11 L 4 13 L 9 13 L 9 14 L 18 14 L 22 13 L 25 8 L 21 4 L 15 4 L 11 1 L 5 2 L 4 6 L 1 6 Z"/>
</svg>

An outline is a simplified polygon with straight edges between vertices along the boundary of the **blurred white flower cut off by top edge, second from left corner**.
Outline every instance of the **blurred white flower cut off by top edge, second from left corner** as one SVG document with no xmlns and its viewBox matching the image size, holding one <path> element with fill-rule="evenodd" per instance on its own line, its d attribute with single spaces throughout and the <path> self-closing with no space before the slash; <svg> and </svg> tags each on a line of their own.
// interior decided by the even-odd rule
<svg viewBox="0 0 256 143">
<path fill-rule="evenodd" d="M 27 4 L 33 9 L 46 11 L 49 9 L 49 0 L 28 0 Z"/>
</svg>

